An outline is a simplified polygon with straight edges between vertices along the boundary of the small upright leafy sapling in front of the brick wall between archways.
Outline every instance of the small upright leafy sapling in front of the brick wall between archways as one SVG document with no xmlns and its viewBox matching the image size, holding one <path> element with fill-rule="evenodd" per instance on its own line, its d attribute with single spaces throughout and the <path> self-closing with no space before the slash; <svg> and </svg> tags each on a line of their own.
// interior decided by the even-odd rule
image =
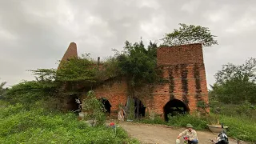
<svg viewBox="0 0 256 144">
<path fill-rule="evenodd" d="M 101 101 L 96 98 L 94 91 L 90 90 L 82 102 L 82 110 L 85 111 L 86 119 L 97 120 L 98 124 L 104 124 L 106 120 L 105 108 Z"/>
</svg>

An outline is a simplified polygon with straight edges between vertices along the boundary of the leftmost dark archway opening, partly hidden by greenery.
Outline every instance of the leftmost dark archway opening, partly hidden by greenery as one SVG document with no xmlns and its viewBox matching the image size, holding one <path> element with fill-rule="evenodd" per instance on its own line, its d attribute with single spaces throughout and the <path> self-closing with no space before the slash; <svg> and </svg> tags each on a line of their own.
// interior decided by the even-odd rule
<svg viewBox="0 0 256 144">
<path fill-rule="evenodd" d="M 75 113 L 79 113 L 81 110 L 80 110 L 80 107 L 79 107 L 78 100 L 80 102 L 80 99 L 78 98 L 77 94 L 70 95 L 70 98 L 69 98 L 68 102 L 66 102 L 67 109 L 71 110 L 71 111 L 74 111 Z"/>
</svg>

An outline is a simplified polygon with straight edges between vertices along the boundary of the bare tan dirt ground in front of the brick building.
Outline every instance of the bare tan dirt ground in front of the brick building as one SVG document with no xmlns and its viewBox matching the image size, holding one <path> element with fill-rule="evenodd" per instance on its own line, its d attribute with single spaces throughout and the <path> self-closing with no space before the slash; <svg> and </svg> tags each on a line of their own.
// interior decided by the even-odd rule
<svg viewBox="0 0 256 144">
<path fill-rule="evenodd" d="M 132 138 L 138 138 L 143 144 L 170 144 L 175 143 L 176 138 L 182 130 L 170 128 L 163 125 L 148 125 L 133 122 L 119 122 L 118 126 L 125 129 Z M 217 137 L 217 134 L 198 131 L 199 143 L 207 144 L 211 143 L 210 139 Z M 237 144 L 238 142 L 232 138 L 229 138 L 230 144 Z M 181 138 L 182 143 L 182 138 Z M 247 142 L 240 142 L 240 144 L 246 144 Z"/>
</svg>

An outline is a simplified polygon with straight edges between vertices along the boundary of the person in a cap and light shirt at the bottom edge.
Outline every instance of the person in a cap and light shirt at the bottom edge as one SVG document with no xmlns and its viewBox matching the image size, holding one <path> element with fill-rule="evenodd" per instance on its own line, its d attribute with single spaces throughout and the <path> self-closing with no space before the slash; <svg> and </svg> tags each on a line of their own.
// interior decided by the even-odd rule
<svg viewBox="0 0 256 144">
<path fill-rule="evenodd" d="M 177 139 L 186 135 L 188 137 L 187 141 L 189 144 L 198 144 L 197 132 L 195 130 L 193 130 L 192 128 L 193 128 L 193 126 L 190 123 L 188 123 L 186 125 L 186 130 L 182 131 L 181 134 L 178 134 Z"/>
</svg>

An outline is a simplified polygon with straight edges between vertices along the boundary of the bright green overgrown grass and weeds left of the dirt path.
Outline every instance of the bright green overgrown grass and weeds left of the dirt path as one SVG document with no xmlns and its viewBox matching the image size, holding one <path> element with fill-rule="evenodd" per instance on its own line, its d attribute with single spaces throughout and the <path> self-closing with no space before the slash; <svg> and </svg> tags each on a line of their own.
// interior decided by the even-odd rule
<svg viewBox="0 0 256 144">
<path fill-rule="evenodd" d="M 0 107 L 0 143 L 138 143 L 122 128 L 88 127 L 74 114 L 49 112 L 20 104 Z"/>
</svg>

